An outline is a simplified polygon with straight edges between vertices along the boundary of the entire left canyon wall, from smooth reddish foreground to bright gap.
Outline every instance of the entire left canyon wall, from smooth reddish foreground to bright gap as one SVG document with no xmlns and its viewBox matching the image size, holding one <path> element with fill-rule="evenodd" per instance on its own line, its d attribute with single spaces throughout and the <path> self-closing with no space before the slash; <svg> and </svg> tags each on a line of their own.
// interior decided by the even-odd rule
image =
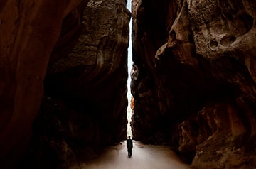
<svg viewBox="0 0 256 169">
<path fill-rule="evenodd" d="M 2 168 L 25 152 L 68 168 L 75 148 L 126 136 L 130 13 L 126 1 L 87 2 L 0 2 Z"/>
</svg>

